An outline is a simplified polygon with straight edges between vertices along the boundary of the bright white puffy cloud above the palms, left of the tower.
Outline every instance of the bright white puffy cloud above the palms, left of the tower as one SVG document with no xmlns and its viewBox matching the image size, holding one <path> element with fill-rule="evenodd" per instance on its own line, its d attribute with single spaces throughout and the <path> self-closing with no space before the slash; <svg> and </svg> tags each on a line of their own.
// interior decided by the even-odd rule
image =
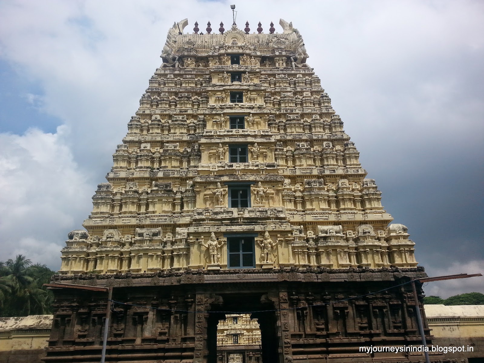
<svg viewBox="0 0 484 363">
<path fill-rule="evenodd" d="M 56 134 L 0 134 L 0 260 L 22 254 L 58 268 L 67 232 L 87 215 L 92 186 L 66 136 L 66 126 Z"/>
</svg>

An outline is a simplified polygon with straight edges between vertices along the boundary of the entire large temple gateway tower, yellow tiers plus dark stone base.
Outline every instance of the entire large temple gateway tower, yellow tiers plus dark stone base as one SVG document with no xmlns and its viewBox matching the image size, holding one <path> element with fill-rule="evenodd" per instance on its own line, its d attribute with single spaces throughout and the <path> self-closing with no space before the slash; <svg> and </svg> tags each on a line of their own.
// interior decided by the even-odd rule
<svg viewBox="0 0 484 363">
<path fill-rule="evenodd" d="M 112 287 L 106 362 L 423 360 L 359 348 L 420 345 L 416 309 L 431 342 L 408 284 L 426 274 L 306 63 L 302 35 L 279 24 L 184 32 L 185 19 L 168 30 L 53 278 Z M 99 362 L 107 294 L 53 291 L 45 363 Z M 257 319 L 257 351 L 217 354 L 219 320 L 237 315 Z"/>
</svg>

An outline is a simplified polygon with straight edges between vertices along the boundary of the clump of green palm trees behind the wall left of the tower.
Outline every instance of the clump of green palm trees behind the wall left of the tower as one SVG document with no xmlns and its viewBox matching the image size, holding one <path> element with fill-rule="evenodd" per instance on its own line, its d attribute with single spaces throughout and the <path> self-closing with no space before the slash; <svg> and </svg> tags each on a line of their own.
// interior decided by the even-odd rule
<svg viewBox="0 0 484 363">
<path fill-rule="evenodd" d="M 50 313 L 52 295 L 42 285 L 53 273 L 44 265 L 32 265 L 30 259 L 22 255 L 0 262 L 0 316 Z"/>
</svg>

